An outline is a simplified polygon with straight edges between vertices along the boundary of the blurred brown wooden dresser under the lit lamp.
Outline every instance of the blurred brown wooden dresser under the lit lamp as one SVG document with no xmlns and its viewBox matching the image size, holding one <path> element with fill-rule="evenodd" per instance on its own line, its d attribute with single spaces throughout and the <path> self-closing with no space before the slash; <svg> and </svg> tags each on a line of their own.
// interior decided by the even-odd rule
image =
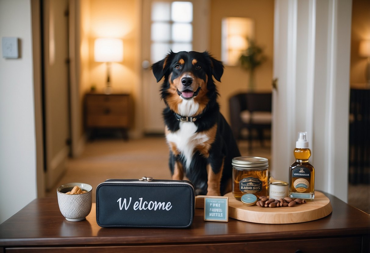
<svg viewBox="0 0 370 253">
<path fill-rule="evenodd" d="M 88 93 L 84 107 L 87 129 L 120 129 L 124 138 L 128 138 L 132 109 L 129 94 Z"/>
</svg>

